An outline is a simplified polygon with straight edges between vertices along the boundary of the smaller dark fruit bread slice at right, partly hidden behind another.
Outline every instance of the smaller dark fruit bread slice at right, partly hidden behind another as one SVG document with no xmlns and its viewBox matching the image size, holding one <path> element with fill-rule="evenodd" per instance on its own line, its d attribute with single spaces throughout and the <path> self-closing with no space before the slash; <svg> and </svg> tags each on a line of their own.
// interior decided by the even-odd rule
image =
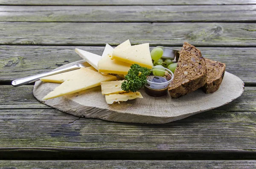
<svg viewBox="0 0 256 169">
<path fill-rule="evenodd" d="M 213 93 L 218 90 L 224 77 L 225 63 L 217 62 L 205 58 L 207 68 L 207 79 L 205 85 L 202 87 L 205 93 Z"/>
</svg>

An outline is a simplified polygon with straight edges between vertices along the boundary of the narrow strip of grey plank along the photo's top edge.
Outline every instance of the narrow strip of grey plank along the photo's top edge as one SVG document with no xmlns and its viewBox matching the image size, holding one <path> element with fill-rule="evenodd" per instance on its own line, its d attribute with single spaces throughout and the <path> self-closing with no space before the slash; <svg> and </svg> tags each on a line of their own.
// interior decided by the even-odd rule
<svg viewBox="0 0 256 169">
<path fill-rule="evenodd" d="M 255 0 L 0 0 L 1 5 L 244 5 Z"/>
</svg>

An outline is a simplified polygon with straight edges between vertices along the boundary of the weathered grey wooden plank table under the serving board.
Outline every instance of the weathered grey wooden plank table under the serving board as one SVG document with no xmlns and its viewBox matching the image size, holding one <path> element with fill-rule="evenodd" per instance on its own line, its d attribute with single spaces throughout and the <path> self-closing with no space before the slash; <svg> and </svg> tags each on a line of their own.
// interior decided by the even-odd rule
<svg viewBox="0 0 256 169">
<path fill-rule="evenodd" d="M 0 168 L 255 168 L 256 0 L 0 0 Z M 198 47 L 244 81 L 233 102 L 163 125 L 75 117 L 11 81 L 150 43 Z"/>
</svg>

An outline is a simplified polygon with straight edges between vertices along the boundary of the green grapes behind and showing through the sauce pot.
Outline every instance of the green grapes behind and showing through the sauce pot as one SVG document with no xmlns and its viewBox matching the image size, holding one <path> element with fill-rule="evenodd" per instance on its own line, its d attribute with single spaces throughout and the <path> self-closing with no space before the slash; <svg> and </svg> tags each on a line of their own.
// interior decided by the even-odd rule
<svg viewBox="0 0 256 169">
<path fill-rule="evenodd" d="M 154 48 L 152 51 L 151 51 L 151 59 L 154 60 L 153 61 L 153 64 L 154 66 L 159 66 L 159 67 L 164 67 L 164 68 L 167 68 L 169 70 L 171 70 L 173 73 L 177 67 L 177 63 L 173 63 L 171 59 L 164 59 L 162 58 L 163 56 L 163 49 L 162 48 Z M 158 72 L 158 73 L 154 73 L 154 72 Z M 153 71 L 153 74 L 156 75 L 156 74 L 163 74 L 164 75 L 164 72 L 162 71 Z M 162 75 L 162 76 L 163 76 Z M 160 76 L 160 75 L 158 75 Z"/>
</svg>

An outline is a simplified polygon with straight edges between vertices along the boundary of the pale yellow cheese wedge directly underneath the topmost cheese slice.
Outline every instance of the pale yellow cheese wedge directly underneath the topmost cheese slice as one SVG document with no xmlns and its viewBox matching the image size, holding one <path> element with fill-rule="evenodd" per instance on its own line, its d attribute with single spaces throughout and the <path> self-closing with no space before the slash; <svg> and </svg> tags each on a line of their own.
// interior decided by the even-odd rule
<svg viewBox="0 0 256 169">
<path fill-rule="evenodd" d="M 115 50 L 121 50 L 128 47 L 131 47 L 131 43 L 129 40 L 126 40 L 125 42 L 116 46 Z M 98 61 L 98 71 L 102 73 L 127 74 L 130 68 L 130 63 L 114 60 L 112 58 L 112 52 L 102 57 L 101 60 Z"/>
</svg>

